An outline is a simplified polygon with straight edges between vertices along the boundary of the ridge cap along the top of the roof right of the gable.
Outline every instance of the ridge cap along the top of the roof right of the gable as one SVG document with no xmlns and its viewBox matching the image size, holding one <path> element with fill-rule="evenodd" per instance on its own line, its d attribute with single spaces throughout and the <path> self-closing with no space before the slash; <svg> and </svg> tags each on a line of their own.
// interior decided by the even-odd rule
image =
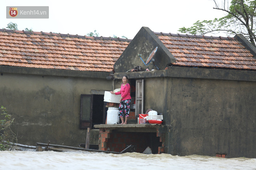
<svg viewBox="0 0 256 170">
<path fill-rule="evenodd" d="M 154 32 L 154 31 L 153 31 Z M 176 37 L 194 37 L 194 38 L 207 38 L 207 39 L 226 39 L 226 40 L 237 40 L 237 38 L 235 37 L 222 37 L 222 36 L 219 36 L 219 37 L 215 37 L 215 36 L 199 36 L 199 35 L 190 35 L 190 34 L 172 34 L 171 32 L 169 33 L 163 33 L 163 32 L 154 32 L 154 34 L 157 34 L 157 35 L 163 35 L 163 36 L 176 36 Z"/>
</svg>

